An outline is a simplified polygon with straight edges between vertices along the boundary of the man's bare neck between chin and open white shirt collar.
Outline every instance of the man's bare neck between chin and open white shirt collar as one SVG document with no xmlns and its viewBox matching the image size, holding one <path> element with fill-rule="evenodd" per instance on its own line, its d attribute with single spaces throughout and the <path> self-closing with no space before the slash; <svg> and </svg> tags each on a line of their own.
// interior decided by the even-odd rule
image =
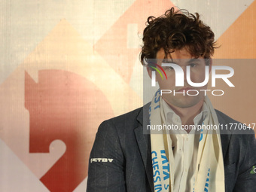
<svg viewBox="0 0 256 192">
<path fill-rule="evenodd" d="M 179 108 L 177 106 L 169 104 L 168 102 L 166 103 L 169 105 L 170 108 L 172 108 L 175 114 L 178 114 L 178 116 L 181 118 L 182 125 L 194 125 L 194 117 L 196 117 L 197 114 L 200 114 L 203 106 L 203 100 L 189 108 Z"/>
</svg>

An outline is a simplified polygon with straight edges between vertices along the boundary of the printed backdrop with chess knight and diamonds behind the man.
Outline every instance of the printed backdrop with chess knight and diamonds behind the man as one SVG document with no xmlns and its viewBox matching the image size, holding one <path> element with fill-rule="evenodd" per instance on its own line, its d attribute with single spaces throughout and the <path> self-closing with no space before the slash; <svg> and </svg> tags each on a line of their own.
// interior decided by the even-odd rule
<svg viewBox="0 0 256 192">
<path fill-rule="evenodd" d="M 212 27 L 215 59 L 256 59 L 252 0 L 0 2 L 0 191 L 85 191 L 99 123 L 142 106 L 145 21 L 172 6 Z M 215 108 L 256 123 L 255 69 Z"/>
</svg>

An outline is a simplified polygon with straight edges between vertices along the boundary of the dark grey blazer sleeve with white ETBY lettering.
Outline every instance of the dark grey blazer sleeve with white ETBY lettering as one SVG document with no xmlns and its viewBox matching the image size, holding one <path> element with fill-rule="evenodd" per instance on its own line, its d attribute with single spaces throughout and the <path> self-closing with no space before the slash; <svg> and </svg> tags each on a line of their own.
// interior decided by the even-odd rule
<svg viewBox="0 0 256 192">
<path fill-rule="evenodd" d="M 126 191 L 123 151 L 112 120 L 99 126 L 90 153 L 87 192 L 94 191 Z"/>
</svg>

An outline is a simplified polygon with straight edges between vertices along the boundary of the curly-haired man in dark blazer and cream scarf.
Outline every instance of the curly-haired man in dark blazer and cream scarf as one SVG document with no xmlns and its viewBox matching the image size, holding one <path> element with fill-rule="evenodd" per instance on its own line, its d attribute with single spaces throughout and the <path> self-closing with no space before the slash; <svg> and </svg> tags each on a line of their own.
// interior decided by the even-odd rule
<svg viewBox="0 0 256 192">
<path fill-rule="evenodd" d="M 172 8 L 162 17 L 148 17 L 143 43 L 141 61 L 147 65 L 148 75 L 153 78 L 152 69 L 163 69 L 166 79 L 155 73 L 160 90 L 175 94 L 158 90 L 144 110 L 136 109 L 99 126 L 90 154 L 87 191 L 254 191 L 253 130 L 233 134 L 230 124 L 238 122 L 212 108 L 200 91 L 207 90 L 207 84 L 188 84 L 203 82 L 206 69 L 211 70 L 212 30 L 199 14 Z M 164 66 L 164 62 L 183 70 L 183 86 L 176 86 L 174 66 Z M 198 94 L 185 94 L 193 91 Z M 175 125 L 178 130 L 143 134 L 143 121 L 151 127 Z M 227 125 L 228 131 L 198 129 L 199 125 L 218 124 Z M 181 129 L 184 126 L 190 128 Z"/>
</svg>

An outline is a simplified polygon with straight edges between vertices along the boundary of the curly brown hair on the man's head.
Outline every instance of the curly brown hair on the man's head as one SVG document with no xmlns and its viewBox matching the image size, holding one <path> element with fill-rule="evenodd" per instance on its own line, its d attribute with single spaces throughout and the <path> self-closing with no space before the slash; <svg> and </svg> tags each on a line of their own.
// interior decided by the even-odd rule
<svg viewBox="0 0 256 192">
<path fill-rule="evenodd" d="M 167 54 L 187 47 L 187 51 L 196 58 L 209 59 L 215 50 L 215 35 L 206 26 L 198 13 L 187 10 L 169 9 L 160 17 L 148 17 L 143 32 L 143 46 L 140 55 L 143 59 L 154 59 L 157 51 L 163 48 Z"/>
</svg>

